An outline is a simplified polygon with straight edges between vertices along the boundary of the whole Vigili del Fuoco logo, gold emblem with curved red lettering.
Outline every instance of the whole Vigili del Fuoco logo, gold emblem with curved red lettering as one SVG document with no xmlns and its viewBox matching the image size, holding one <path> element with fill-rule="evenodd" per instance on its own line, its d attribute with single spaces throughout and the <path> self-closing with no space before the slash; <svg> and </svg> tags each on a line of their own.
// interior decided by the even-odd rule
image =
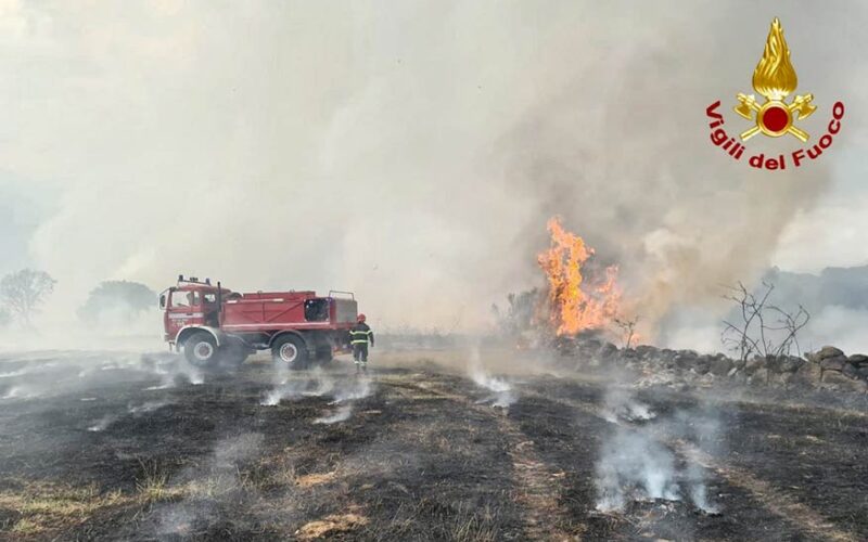
<svg viewBox="0 0 868 542">
<path fill-rule="evenodd" d="M 809 117 L 817 106 L 813 104 L 814 94 L 796 94 L 788 102 L 788 96 L 795 91 L 799 78 L 795 68 L 790 63 L 790 48 L 783 39 L 783 28 L 777 17 L 771 22 L 768 31 L 763 57 L 753 70 L 753 89 L 765 100 L 757 100 L 754 94 L 739 93 L 738 103 L 733 111 L 745 118 L 753 126 L 736 137 L 730 137 L 724 130 L 724 117 L 718 113 L 720 101 L 709 105 L 705 115 L 711 119 L 712 143 L 724 150 L 732 159 L 743 162 L 745 142 L 757 134 L 768 138 L 787 138 L 792 136 L 802 143 L 807 143 L 810 134 L 797 126 L 800 120 Z M 749 155 L 746 159 L 751 167 L 757 169 L 781 170 L 788 167 L 801 167 L 822 155 L 824 151 L 832 144 L 832 138 L 841 130 L 841 119 L 844 117 L 844 104 L 835 102 L 832 105 L 832 116 L 826 133 L 813 145 L 779 154 L 766 156 L 764 153 Z M 789 139 L 789 138 L 787 138 Z"/>
</svg>

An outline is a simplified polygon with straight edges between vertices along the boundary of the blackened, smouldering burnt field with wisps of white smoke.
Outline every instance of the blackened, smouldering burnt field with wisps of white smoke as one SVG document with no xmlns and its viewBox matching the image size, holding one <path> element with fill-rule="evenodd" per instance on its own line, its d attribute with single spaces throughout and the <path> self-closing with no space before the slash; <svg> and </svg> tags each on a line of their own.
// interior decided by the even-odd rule
<svg viewBox="0 0 868 542">
<path fill-rule="evenodd" d="M 865 408 L 425 357 L 357 376 L 8 356 L 0 537 L 868 538 Z"/>
</svg>

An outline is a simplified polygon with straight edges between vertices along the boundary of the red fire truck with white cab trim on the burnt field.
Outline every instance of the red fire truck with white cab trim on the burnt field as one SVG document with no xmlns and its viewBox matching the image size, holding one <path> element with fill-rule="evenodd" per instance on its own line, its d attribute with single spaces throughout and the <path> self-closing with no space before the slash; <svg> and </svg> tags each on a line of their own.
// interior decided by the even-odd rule
<svg viewBox="0 0 868 542">
<path fill-rule="evenodd" d="M 164 339 L 197 367 L 241 364 L 256 350 L 275 363 L 304 369 L 349 351 L 358 305 L 348 292 L 238 293 L 209 279 L 178 276 L 159 295 Z"/>
</svg>

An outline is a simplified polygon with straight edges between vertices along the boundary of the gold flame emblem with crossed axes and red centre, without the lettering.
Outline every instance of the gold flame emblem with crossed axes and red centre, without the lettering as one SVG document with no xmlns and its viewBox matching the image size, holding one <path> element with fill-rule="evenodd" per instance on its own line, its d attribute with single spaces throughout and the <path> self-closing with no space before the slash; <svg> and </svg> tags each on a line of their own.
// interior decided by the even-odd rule
<svg viewBox="0 0 868 542">
<path fill-rule="evenodd" d="M 778 17 L 775 17 L 768 31 L 763 57 L 753 70 L 753 88 L 765 96 L 766 102 L 756 103 L 753 94 L 745 95 L 739 92 L 737 96 L 740 105 L 735 107 L 736 113 L 748 120 L 756 121 L 756 126 L 741 134 L 742 141 L 760 132 L 771 138 L 792 133 L 802 142 L 807 141 L 807 132 L 793 126 L 793 121 L 808 117 L 817 106 L 810 105 L 814 94 L 796 95 L 792 103 L 786 102 L 797 82 L 795 69 L 790 64 L 790 48 L 783 39 L 783 28 Z"/>
</svg>

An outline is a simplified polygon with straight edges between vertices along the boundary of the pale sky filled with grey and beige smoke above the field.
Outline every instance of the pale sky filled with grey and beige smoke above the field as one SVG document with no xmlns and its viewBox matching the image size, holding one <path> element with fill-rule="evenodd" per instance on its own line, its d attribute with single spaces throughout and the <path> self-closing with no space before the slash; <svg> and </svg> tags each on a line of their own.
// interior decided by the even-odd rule
<svg viewBox="0 0 868 542">
<path fill-rule="evenodd" d="M 777 175 L 704 115 L 752 92 L 775 15 L 812 141 L 847 106 L 828 155 Z M 71 309 L 180 272 L 354 289 L 374 323 L 448 330 L 541 284 L 553 214 L 652 318 L 771 263 L 868 263 L 866 23 L 860 2 L 0 0 L 0 272 L 48 270 Z"/>
</svg>

